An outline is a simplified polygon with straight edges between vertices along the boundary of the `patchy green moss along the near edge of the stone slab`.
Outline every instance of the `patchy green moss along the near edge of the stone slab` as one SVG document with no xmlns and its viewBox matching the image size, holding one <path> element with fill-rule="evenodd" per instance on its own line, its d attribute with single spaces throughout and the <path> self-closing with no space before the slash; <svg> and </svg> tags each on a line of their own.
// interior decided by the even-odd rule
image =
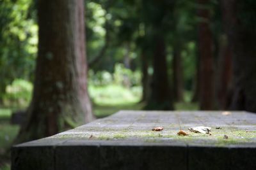
<svg viewBox="0 0 256 170">
<path fill-rule="evenodd" d="M 83 129 L 84 134 L 63 134 L 57 138 L 69 139 L 92 139 L 92 140 L 116 140 L 116 139 L 138 139 L 145 142 L 178 142 L 196 145 L 228 146 L 250 143 L 256 138 L 255 131 L 248 131 L 237 128 L 212 129 L 212 135 L 189 132 L 188 136 L 178 136 L 178 130 L 168 130 L 156 132 L 151 130 L 135 131 L 132 129 L 101 129 L 90 128 L 90 131 Z M 93 138 L 90 136 L 93 135 Z M 227 135 L 228 139 L 223 139 Z"/>
</svg>

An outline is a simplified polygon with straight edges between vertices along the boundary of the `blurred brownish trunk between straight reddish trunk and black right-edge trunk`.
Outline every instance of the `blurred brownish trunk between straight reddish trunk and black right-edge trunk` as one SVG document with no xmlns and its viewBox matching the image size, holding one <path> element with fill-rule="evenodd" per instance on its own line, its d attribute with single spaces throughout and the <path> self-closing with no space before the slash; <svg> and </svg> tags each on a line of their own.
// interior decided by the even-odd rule
<svg viewBox="0 0 256 170">
<path fill-rule="evenodd" d="M 218 110 L 228 110 L 232 89 L 232 54 L 227 34 L 223 30 L 225 22 L 221 16 L 220 2 L 212 3 L 212 34 L 214 39 L 214 106 Z"/>
</svg>

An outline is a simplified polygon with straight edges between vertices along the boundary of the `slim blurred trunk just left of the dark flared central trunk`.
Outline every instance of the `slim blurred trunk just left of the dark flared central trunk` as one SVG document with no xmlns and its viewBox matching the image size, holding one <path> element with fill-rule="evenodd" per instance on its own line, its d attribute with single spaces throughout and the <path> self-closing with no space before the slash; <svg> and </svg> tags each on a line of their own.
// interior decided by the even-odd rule
<svg viewBox="0 0 256 170">
<path fill-rule="evenodd" d="M 141 102 L 148 101 L 150 90 L 149 90 L 149 75 L 148 75 L 148 58 L 145 50 L 142 50 L 141 54 L 141 83 L 142 83 L 142 96 Z"/>
</svg>

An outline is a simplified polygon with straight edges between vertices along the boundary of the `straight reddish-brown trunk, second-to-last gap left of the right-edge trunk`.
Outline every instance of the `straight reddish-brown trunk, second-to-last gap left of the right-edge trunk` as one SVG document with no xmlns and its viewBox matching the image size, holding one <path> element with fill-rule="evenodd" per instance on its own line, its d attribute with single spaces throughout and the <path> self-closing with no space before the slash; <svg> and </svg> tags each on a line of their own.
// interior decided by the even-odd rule
<svg viewBox="0 0 256 170">
<path fill-rule="evenodd" d="M 198 0 L 202 6 L 209 0 Z M 200 109 L 214 108 L 214 59 L 212 53 L 212 33 L 210 29 L 210 13 L 207 8 L 198 10 L 202 21 L 199 24 L 199 54 L 200 54 Z"/>
</svg>

